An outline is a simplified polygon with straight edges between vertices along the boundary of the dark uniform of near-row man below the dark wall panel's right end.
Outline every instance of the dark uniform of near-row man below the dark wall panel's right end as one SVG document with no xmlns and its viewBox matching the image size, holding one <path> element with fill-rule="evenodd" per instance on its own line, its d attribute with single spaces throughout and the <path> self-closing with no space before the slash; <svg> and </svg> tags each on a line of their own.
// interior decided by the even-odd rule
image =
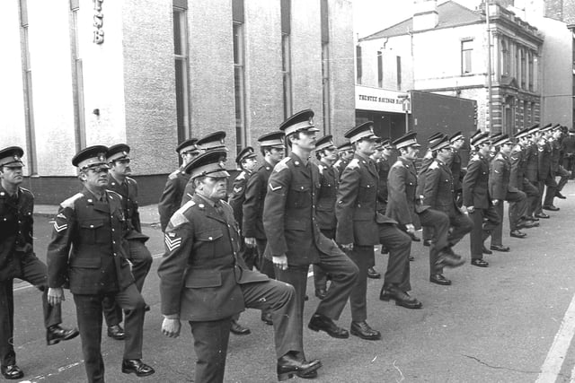
<svg viewBox="0 0 575 383">
<path fill-rule="evenodd" d="M 473 213 L 469 213 L 473 222 L 470 233 L 472 259 L 483 258 L 483 242 L 500 223 L 500 216 L 491 204 L 488 182 L 489 160 L 477 152 L 469 160 L 462 183 L 464 206 L 474 208 Z"/>
</svg>

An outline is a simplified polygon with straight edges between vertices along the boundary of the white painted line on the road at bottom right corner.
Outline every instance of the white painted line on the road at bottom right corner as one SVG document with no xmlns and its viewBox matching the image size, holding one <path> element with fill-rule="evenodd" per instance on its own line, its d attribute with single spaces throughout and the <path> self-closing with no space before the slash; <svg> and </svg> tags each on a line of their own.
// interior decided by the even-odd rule
<svg viewBox="0 0 575 383">
<path fill-rule="evenodd" d="M 571 340 L 575 334 L 575 295 L 571 299 L 571 304 L 565 312 L 565 316 L 562 319 L 562 324 L 559 327 L 559 331 L 555 335 L 551 349 L 547 353 L 547 358 L 541 367 L 541 372 L 539 377 L 535 380 L 535 383 L 553 383 L 557 380 L 559 373 L 561 372 L 563 361 L 565 360 L 565 355 L 571 345 Z M 573 376 L 575 374 L 575 368 L 571 371 L 571 382 L 574 382 Z"/>
</svg>

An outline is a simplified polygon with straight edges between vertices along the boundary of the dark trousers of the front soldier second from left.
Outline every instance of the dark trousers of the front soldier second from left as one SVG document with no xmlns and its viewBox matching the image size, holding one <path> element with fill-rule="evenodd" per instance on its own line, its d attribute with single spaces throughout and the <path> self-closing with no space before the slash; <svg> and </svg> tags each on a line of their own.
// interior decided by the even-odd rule
<svg viewBox="0 0 575 383">
<path fill-rule="evenodd" d="M 78 329 L 82 339 L 82 353 L 88 381 L 104 381 L 104 362 L 102 360 L 102 302 L 110 297 L 121 309 L 126 310 L 126 339 L 124 359 L 142 358 L 142 335 L 144 328 L 144 307 L 146 303 L 136 284 L 131 283 L 121 292 L 109 294 L 74 294 Z"/>
</svg>

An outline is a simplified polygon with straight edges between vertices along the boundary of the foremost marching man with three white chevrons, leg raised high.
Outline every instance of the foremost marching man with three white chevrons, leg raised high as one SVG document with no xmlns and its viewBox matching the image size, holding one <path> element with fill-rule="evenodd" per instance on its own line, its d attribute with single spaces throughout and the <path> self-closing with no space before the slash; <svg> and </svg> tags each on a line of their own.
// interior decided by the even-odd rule
<svg viewBox="0 0 575 383">
<path fill-rule="evenodd" d="M 268 309 L 273 317 L 278 379 L 313 378 L 321 361 L 306 361 L 294 288 L 248 270 L 238 257 L 240 236 L 224 198 L 229 174 L 226 151 L 201 154 L 185 168 L 195 184 L 190 201 L 173 214 L 158 268 L 162 332 L 180 335 L 189 321 L 197 355 L 195 381 L 222 382 L 230 318 L 245 308 Z"/>
</svg>

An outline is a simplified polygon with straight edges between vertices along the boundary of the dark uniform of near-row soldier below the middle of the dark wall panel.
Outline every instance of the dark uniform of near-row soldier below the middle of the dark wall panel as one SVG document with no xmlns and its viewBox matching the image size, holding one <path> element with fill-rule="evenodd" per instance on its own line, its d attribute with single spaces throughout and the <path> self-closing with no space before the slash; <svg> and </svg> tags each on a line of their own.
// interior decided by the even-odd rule
<svg viewBox="0 0 575 383">
<path fill-rule="evenodd" d="M 448 247 L 455 246 L 465 234 L 473 229 L 473 222 L 467 215 L 461 213 L 456 204 L 455 181 L 451 169 L 445 162 L 438 159 L 429 165 L 426 172 L 423 204 L 446 213 L 449 217 L 449 226 L 453 229 L 447 235 Z M 432 268 L 436 267 L 435 263 L 432 265 Z M 438 268 L 435 274 L 442 274 L 441 271 Z"/>
</svg>

